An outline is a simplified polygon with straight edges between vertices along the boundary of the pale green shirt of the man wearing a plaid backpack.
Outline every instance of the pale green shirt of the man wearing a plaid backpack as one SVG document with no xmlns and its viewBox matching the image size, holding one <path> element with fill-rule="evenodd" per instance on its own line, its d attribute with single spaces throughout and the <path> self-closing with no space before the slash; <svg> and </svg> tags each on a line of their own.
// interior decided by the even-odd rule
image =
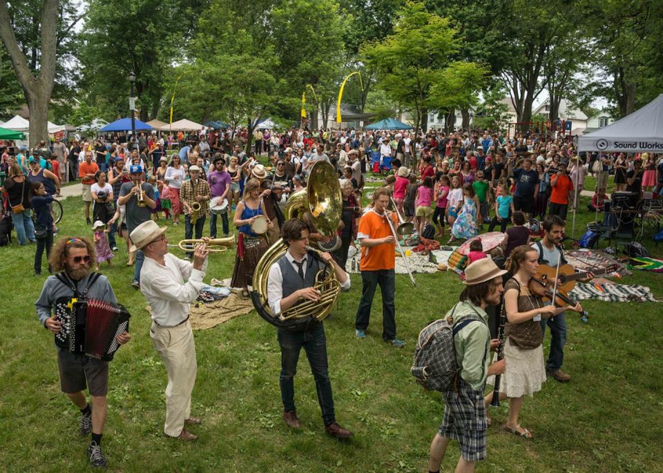
<svg viewBox="0 0 663 473">
<path fill-rule="evenodd" d="M 470 322 L 465 325 L 454 338 L 456 360 L 461 367 L 461 378 L 472 386 L 472 389 L 483 389 L 488 374 L 488 360 L 490 357 L 490 330 L 488 329 L 488 314 L 469 300 L 459 302 L 454 306 L 454 322 L 469 316 L 478 316 L 481 322 Z M 453 309 L 452 309 L 453 310 Z M 448 317 L 451 311 L 448 311 Z"/>
</svg>

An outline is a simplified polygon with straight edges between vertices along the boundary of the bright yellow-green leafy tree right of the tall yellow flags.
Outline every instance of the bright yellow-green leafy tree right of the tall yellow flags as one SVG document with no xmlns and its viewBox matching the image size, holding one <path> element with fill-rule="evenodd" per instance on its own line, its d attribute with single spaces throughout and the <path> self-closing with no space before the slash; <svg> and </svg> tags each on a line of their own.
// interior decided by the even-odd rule
<svg viewBox="0 0 663 473">
<path fill-rule="evenodd" d="M 396 17 L 394 34 L 365 44 L 361 52 L 376 70 L 378 86 L 396 103 L 409 108 L 415 127 L 426 128 L 427 110 L 448 109 L 467 99 L 465 91 L 462 97 L 454 97 L 448 89 L 455 86 L 454 71 L 462 70 L 465 79 L 483 77 L 483 72 L 475 76 L 472 70 L 481 70 L 478 64 L 450 61 L 459 51 L 459 39 L 449 19 L 428 12 L 416 1 L 408 1 Z M 465 81 L 470 90 L 477 90 L 479 85 Z"/>
</svg>

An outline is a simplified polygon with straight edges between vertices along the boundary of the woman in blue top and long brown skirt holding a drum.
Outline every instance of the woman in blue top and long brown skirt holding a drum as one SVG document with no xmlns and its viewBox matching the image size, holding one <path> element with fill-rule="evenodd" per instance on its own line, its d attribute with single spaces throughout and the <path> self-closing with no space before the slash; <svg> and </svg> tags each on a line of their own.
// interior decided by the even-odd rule
<svg viewBox="0 0 663 473">
<path fill-rule="evenodd" d="M 249 284 L 262 254 L 269 248 L 265 234 L 273 223 L 265 216 L 265 202 L 260 198 L 260 182 L 249 179 L 244 186 L 244 198 L 237 204 L 233 224 L 240 234 L 231 287 L 241 287 L 242 295 L 249 297 Z"/>
</svg>

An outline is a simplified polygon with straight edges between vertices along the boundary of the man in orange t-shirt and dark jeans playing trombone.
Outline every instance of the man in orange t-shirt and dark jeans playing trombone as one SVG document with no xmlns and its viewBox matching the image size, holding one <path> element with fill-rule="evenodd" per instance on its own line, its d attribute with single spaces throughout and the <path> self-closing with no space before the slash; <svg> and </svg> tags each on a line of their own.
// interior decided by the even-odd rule
<svg viewBox="0 0 663 473">
<path fill-rule="evenodd" d="M 394 307 L 396 236 L 393 228 L 398 226 L 398 217 L 396 213 L 387 211 L 389 202 L 389 191 L 385 187 L 378 187 L 373 193 L 373 208 L 364 213 L 359 220 L 357 238 L 361 244 L 359 269 L 362 289 L 354 333 L 358 338 L 365 338 L 375 289 L 379 284 L 382 293 L 382 339 L 394 347 L 402 348 L 405 342 L 396 338 Z M 392 220 L 393 226 L 389 224 L 387 218 Z"/>
</svg>

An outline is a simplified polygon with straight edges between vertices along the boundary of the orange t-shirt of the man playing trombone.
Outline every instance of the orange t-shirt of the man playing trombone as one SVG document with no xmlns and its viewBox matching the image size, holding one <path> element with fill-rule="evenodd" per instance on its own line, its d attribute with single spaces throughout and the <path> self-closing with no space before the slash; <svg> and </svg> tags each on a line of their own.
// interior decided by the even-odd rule
<svg viewBox="0 0 663 473">
<path fill-rule="evenodd" d="M 394 228 L 398 225 L 398 217 L 392 213 Z M 362 215 L 357 229 L 357 238 L 385 238 L 393 236 L 389 223 L 383 215 L 369 210 Z M 375 247 L 361 247 L 361 260 L 359 269 L 361 271 L 378 271 L 380 269 L 394 269 L 396 265 L 396 244 L 383 243 Z"/>
</svg>

